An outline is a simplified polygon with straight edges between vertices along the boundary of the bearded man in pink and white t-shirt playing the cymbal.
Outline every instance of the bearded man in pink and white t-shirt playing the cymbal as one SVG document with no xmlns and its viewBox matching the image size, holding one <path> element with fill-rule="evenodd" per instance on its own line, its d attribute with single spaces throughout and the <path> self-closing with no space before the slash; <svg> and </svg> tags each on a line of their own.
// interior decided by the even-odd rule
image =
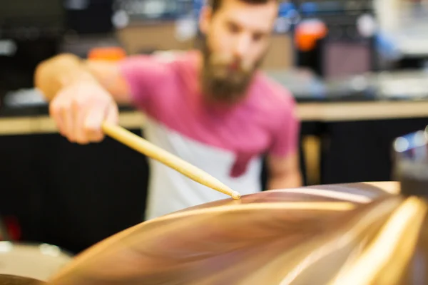
<svg viewBox="0 0 428 285">
<path fill-rule="evenodd" d="M 130 56 L 100 63 L 60 55 L 37 68 L 36 86 L 71 142 L 103 140 L 101 123 L 117 123 L 116 103 L 130 103 L 148 116 L 148 140 L 242 195 L 261 190 L 265 153 L 267 187 L 299 187 L 295 101 L 258 71 L 277 9 L 276 0 L 214 0 L 200 16 L 202 51 L 169 62 Z M 151 161 L 146 219 L 224 198 Z"/>
</svg>

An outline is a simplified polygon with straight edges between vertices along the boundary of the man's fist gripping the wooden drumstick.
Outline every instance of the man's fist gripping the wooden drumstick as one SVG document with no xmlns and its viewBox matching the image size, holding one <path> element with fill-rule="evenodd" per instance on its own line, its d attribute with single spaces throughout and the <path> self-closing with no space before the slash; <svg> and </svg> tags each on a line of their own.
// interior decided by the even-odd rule
<svg viewBox="0 0 428 285">
<path fill-rule="evenodd" d="M 102 123 L 118 123 L 113 97 L 91 76 L 78 76 L 63 86 L 49 105 L 61 135 L 81 145 L 103 140 Z"/>
</svg>

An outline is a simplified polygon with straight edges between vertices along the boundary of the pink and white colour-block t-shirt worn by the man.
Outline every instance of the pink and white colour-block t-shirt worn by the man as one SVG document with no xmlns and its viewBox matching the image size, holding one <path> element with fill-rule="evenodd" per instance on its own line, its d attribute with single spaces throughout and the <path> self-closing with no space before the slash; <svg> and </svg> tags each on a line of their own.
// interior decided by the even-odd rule
<svg viewBox="0 0 428 285">
<path fill-rule="evenodd" d="M 131 88 L 133 103 L 148 117 L 145 135 L 243 194 L 260 191 L 262 155 L 286 157 L 297 151 L 300 123 L 295 100 L 259 72 L 243 102 L 232 108 L 209 105 L 200 93 L 197 64 L 197 51 L 170 61 L 156 56 L 131 56 L 123 61 L 121 71 Z M 153 214 L 146 213 L 148 219 L 226 198 L 214 190 L 200 189 L 201 185 L 176 176 L 168 167 L 151 163 L 148 211 Z M 170 184 L 163 181 L 168 179 Z M 164 187 L 180 189 L 166 193 Z M 178 202 L 161 205 L 159 199 L 164 195 Z"/>
</svg>

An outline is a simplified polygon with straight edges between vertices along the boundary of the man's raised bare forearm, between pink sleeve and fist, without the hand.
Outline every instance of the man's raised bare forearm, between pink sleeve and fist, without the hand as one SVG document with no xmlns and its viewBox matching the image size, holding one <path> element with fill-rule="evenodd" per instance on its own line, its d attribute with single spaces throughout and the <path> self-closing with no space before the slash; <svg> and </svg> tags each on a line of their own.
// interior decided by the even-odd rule
<svg viewBox="0 0 428 285">
<path fill-rule="evenodd" d="M 49 101 L 62 88 L 76 81 L 96 81 L 117 103 L 131 101 L 129 86 L 121 75 L 118 63 L 114 62 L 83 61 L 73 54 L 61 54 L 40 63 L 34 81 Z"/>
</svg>

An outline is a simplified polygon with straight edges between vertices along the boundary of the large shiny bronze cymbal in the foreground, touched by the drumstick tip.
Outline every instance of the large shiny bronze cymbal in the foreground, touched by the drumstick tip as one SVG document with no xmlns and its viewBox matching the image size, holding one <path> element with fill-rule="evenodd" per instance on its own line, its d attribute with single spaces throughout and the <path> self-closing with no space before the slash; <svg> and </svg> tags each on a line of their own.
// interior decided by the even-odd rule
<svg viewBox="0 0 428 285">
<path fill-rule="evenodd" d="M 425 284 L 426 209 L 397 182 L 260 192 L 126 229 L 49 284 Z"/>
</svg>

